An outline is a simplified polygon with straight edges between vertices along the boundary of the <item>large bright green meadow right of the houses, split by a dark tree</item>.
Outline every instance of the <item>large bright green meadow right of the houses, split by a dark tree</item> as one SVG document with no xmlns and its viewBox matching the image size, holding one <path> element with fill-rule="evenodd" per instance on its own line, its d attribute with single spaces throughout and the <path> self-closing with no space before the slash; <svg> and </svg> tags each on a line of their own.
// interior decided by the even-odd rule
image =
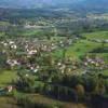
<svg viewBox="0 0 108 108">
<path fill-rule="evenodd" d="M 79 40 L 73 45 L 66 49 L 66 57 L 72 57 L 73 59 L 78 59 L 80 56 L 85 55 L 93 49 L 100 46 L 100 43 L 91 42 L 87 40 Z M 58 50 L 54 52 L 54 56 L 62 57 L 63 50 Z"/>
</svg>

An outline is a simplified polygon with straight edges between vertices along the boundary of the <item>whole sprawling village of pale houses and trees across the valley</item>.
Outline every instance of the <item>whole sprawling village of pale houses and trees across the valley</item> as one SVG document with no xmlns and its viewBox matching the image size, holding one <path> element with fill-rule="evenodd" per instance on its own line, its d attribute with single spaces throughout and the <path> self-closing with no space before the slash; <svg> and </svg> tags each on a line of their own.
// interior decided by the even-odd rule
<svg viewBox="0 0 108 108">
<path fill-rule="evenodd" d="M 39 40 L 38 38 L 1 40 L 0 54 L 2 58 L 4 57 L 1 62 L 1 66 L 3 66 L 1 68 L 16 70 L 17 80 L 21 79 L 21 76 L 26 78 L 33 77 L 33 79 L 38 77 L 38 80 L 42 80 L 43 82 L 48 79 L 48 83 L 53 81 L 56 73 L 58 77 L 84 76 L 108 69 L 108 65 L 98 56 L 85 55 L 80 60 L 73 60 L 72 57 L 67 57 L 67 48 L 73 45 L 79 40 L 80 38 L 78 37 L 55 38 L 51 40 L 46 38 L 43 40 Z M 53 53 L 59 49 L 63 49 L 62 57 L 56 58 Z M 51 81 L 49 82 L 49 80 Z M 12 91 L 12 86 L 14 85 L 8 86 L 9 92 Z M 1 91 L 3 90 L 1 89 Z"/>
</svg>

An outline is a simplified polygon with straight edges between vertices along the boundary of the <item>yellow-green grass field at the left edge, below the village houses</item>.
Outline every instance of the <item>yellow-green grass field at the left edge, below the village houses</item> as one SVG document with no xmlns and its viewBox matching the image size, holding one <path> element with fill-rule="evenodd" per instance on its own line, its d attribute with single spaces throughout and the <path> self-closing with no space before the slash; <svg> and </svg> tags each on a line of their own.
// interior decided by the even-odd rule
<svg viewBox="0 0 108 108">
<path fill-rule="evenodd" d="M 15 71 L 1 71 L 0 72 L 0 86 L 5 86 L 12 82 L 12 80 L 16 79 L 16 72 Z"/>
</svg>

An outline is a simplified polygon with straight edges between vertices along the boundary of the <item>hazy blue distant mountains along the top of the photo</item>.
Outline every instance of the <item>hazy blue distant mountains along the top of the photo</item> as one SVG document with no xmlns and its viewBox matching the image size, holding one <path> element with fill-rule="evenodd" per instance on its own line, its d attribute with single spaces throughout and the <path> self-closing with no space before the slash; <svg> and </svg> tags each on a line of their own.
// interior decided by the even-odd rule
<svg viewBox="0 0 108 108">
<path fill-rule="evenodd" d="M 108 0 L 0 0 L 0 8 L 69 8 L 82 11 L 108 11 Z"/>
</svg>

